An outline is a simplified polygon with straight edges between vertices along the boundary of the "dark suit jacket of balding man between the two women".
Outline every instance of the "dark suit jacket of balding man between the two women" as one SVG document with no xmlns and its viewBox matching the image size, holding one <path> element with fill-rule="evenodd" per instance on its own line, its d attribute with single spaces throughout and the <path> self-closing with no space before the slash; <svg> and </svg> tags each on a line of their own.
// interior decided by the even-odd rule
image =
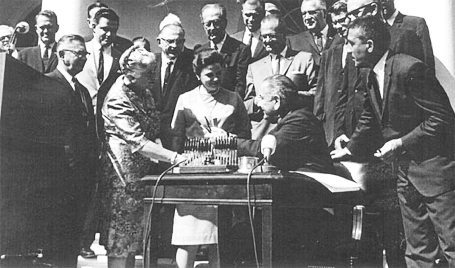
<svg viewBox="0 0 455 268">
<path fill-rule="evenodd" d="M 155 54 L 157 59 L 156 79 L 152 88 L 153 99 L 157 110 L 160 112 L 161 135 L 163 146 L 167 147 L 167 140 L 170 138 L 171 121 L 174 116 L 175 106 L 180 94 L 190 91 L 199 85 L 196 75 L 193 72 L 192 60 L 193 51 L 183 49 L 175 62 L 166 91 L 162 92 L 161 81 L 161 53 Z"/>
</svg>

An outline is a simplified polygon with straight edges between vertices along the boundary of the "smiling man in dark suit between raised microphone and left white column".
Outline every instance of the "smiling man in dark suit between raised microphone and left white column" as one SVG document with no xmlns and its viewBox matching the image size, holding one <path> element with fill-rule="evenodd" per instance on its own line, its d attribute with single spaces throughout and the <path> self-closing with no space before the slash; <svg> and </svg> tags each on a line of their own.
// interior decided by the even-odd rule
<svg viewBox="0 0 455 268">
<path fill-rule="evenodd" d="M 38 46 L 31 46 L 19 51 L 18 60 L 25 62 L 41 73 L 53 71 L 57 66 L 56 32 L 59 25 L 57 15 L 51 10 L 44 10 L 35 17 Z"/>
</svg>

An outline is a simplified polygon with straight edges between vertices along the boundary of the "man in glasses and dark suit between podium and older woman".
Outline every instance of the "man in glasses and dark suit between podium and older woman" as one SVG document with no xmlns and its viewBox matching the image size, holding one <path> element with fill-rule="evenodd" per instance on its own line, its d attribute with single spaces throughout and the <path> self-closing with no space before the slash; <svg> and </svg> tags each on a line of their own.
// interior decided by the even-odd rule
<svg viewBox="0 0 455 268">
<path fill-rule="evenodd" d="M 56 70 L 46 74 L 58 81 L 63 88 L 71 92 L 71 101 L 74 105 L 74 129 L 69 133 L 72 139 L 66 141 L 65 151 L 72 170 L 72 176 L 76 188 L 73 194 L 76 196 L 77 222 L 74 226 L 66 226 L 67 230 L 76 230 L 72 241 L 68 241 L 72 247 L 74 261 L 77 261 L 79 240 L 81 239 L 84 219 L 90 200 L 91 188 L 95 176 L 96 162 L 96 133 L 95 117 L 91 105 L 91 97 L 88 90 L 76 79 L 76 74 L 82 71 L 87 61 L 87 51 L 84 38 L 79 35 L 64 35 L 56 45 L 58 65 Z"/>
</svg>

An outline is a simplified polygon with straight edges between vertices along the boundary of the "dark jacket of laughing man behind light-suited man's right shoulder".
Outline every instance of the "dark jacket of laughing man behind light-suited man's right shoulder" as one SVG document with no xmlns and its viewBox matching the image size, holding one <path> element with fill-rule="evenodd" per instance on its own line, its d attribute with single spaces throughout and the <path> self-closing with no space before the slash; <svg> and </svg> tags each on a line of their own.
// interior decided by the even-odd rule
<svg viewBox="0 0 455 268">
<path fill-rule="evenodd" d="M 310 52 L 313 55 L 314 62 L 319 66 L 322 52 L 332 46 L 343 43 L 343 38 L 341 38 L 332 27 L 329 27 L 323 51 L 318 50 L 318 46 L 314 43 L 313 35 L 309 30 L 297 35 L 288 36 L 286 43 L 289 48 L 293 50 Z"/>
</svg>

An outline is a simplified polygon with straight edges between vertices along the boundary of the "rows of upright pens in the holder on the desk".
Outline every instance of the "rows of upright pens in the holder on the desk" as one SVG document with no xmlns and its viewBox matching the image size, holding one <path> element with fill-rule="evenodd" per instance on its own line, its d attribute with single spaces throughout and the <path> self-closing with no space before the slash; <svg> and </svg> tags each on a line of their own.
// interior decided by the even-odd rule
<svg viewBox="0 0 455 268">
<path fill-rule="evenodd" d="M 185 166 L 237 166 L 237 137 L 189 138 L 183 155 L 188 159 Z"/>
</svg>

